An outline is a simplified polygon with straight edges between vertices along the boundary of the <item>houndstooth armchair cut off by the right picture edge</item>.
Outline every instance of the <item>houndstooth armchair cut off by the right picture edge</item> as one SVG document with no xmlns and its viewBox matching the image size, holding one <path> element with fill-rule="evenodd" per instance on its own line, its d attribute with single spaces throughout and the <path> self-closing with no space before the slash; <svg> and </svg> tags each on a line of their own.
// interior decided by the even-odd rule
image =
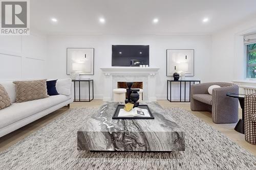
<svg viewBox="0 0 256 170">
<path fill-rule="evenodd" d="M 244 100 L 245 140 L 256 144 L 256 94 L 245 95 Z"/>
</svg>

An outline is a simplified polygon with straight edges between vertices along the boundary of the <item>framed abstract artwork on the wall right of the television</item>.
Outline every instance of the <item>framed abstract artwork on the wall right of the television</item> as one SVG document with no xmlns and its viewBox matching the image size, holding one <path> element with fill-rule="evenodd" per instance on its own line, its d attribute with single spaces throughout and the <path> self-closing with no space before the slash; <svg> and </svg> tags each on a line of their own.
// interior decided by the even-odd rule
<svg viewBox="0 0 256 170">
<path fill-rule="evenodd" d="M 194 49 L 167 49 L 166 76 L 173 76 L 174 72 L 194 76 L 194 54 Z"/>
</svg>

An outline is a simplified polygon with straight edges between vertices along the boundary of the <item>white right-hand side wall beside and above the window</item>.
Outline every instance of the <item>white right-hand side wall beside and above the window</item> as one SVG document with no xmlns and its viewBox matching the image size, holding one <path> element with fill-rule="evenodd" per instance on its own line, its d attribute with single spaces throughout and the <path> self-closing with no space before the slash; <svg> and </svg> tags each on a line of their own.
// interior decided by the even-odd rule
<svg viewBox="0 0 256 170">
<path fill-rule="evenodd" d="M 256 31 L 256 16 L 212 35 L 212 81 L 231 82 L 246 78 L 243 35 Z"/>
</svg>

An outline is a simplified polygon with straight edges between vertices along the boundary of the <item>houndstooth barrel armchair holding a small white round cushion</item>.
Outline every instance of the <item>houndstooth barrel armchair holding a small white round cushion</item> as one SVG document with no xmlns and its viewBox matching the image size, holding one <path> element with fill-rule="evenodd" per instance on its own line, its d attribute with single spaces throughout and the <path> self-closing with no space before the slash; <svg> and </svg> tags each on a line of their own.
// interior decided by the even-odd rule
<svg viewBox="0 0 256 170">
<path fill-rule="evenodd" d="M 221 88 L 208 88 L 219 85 Z M 238 94 L 236 84 L 224 82 L 201 83 L 190 87 L 190 108 L 193 111 L 211 111 L 212 121 L 216 124 L 230 124 L 238 122 L 238 99 L 226 96 L 227 93 Z"/>
</svg>

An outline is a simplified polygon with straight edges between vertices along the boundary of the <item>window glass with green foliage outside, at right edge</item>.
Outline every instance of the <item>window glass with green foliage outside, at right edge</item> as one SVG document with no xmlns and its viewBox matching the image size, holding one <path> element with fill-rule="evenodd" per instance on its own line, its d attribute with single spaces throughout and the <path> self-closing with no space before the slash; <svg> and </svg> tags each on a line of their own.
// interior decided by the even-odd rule
<svg viewBox="0 0 256 170">
<path fill-rule="evenodd" d="M 247 67 L 246 67 L 246 77 L 256 78 L 256 43 L 247 44 Z"/>
</svg>

